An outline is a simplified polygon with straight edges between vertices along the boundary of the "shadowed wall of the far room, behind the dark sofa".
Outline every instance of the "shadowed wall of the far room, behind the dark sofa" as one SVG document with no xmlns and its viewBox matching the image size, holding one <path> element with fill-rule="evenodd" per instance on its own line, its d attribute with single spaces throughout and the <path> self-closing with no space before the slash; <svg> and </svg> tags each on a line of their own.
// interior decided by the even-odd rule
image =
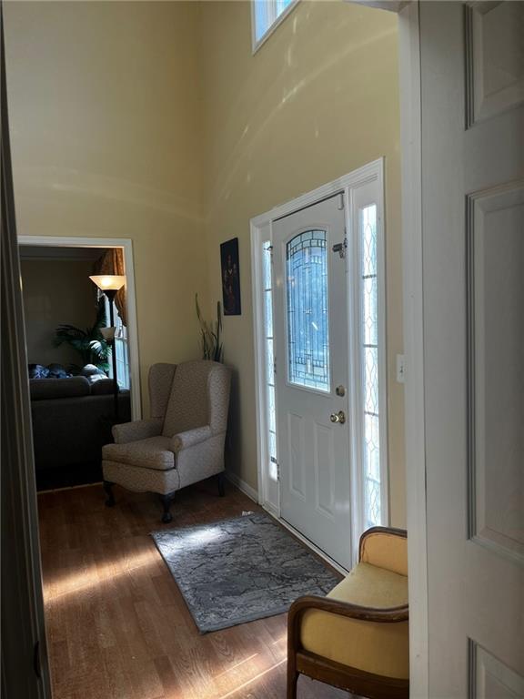
<svg viewBox="0 0 524 699">
<path fill-rule="evenodd" d="M 89 279 L 93 263 L 70 259 L 23 259 L 22 289 L 27 361 L 31 364 L 81 364 L 68 345 L 53 346 L 55 328 L 68 323 L 91 327 L 96 320 L 96 288 Z"/>
</svg>

